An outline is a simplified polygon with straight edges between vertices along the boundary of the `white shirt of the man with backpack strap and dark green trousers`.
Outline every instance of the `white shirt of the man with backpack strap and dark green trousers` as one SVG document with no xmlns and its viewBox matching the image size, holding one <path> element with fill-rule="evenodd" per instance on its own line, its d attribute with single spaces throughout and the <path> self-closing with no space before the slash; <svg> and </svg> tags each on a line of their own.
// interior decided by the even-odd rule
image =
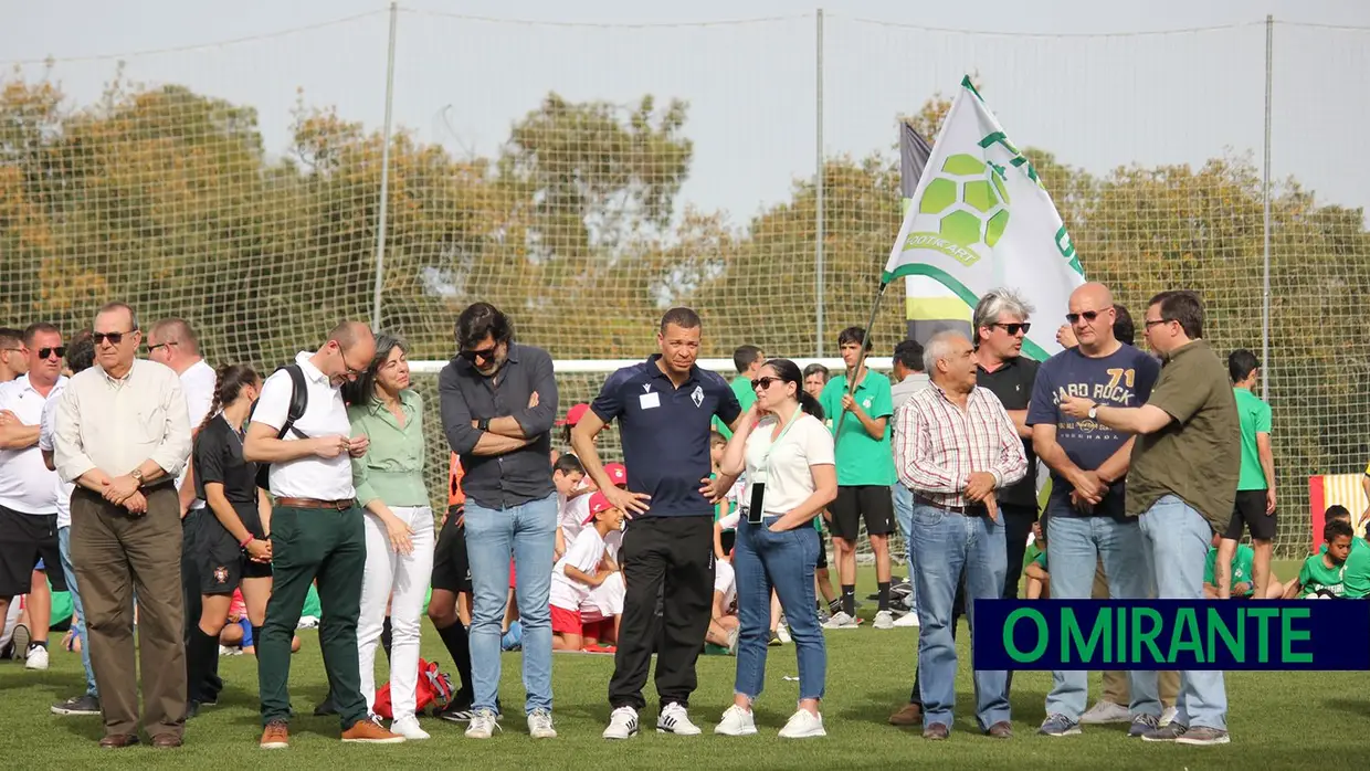
<svg viewBox="0 0 1370 771">
<path fill-rule="evenodd" d="M 310 393 L 304 415 L 295 422 L 295 427 L 311 440 L 327 435 L 352 435 L 352 422 L 348 420 L 347 405 L 342 404 L 342 392 L 333 388 L 327 375 L 310 363 L 310 356 L 314 353 L 304 351 L 295 357 L 295 362 L 304 370 L 304 385 Z M 271 426 L 279 431 L 290 412 L 290 372 L 281 370 L 267 378 L 266 383 L 262 385 L 262 397 L 252 414 L 252 422 Z M 290 442 L 297 441 L 299 437 L 295 435 L 295 431 L 289 431 L 284 440 Z M 286 463 L 273 463 L 271 494 L 278 498 L 325 501 L 356 497 L 356 489 L 352 486 L 352 459 L 348 453 L 340 452 L 337 457 L 311 455 Z"/>
</svg>

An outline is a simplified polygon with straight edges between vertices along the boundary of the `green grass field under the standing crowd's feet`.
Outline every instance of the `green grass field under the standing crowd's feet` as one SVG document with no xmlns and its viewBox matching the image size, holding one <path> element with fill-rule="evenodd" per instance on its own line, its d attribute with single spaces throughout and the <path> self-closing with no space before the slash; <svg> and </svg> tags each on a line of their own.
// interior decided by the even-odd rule
<svg viewBox="0 0 1370 771">
<path fill-rule="evenodd" d="M 1280 563 L 1281 577 L 1293 575 L 1295 563 Z M 873 583 L 869 585 L 873 587 Z M 863 585 L 863 590 L 866 586 Z M 869 615 L 869 612 L 866 614 Z M 342 745 L 336 718 L 312 718 L 325 696 L 318 640 L 301 633 L 303 650 L 292 672 L 296 711 L 292 746 L 270 756 L 256 748 L 260 734 L 256 703 L 256 666 L 247 656 L 221 659 L 227 683 L 219 707 L 206 709 L 186 729 L 186 745 L 178 750 L 153 750 L 147 745 L 100 750 L 99 718 L 58 718 L 48 707 L 81 687 L 77 655 L 56 652 L 47 672 L 26 672 L 21 664 L 0 661 L 0 752 L 8 768 L 89 767 L 184 767 L 247 768 L 270 763 L 271 768 L 364 767 L 484 767 L 529 770 L 575 768 L 875 768 L 896 763 L 930 764 L 937 768 L 1299 768 L 1333 764 L 1360 767 L 1370 753 L 1370 678 L 1365 672 L 1234 672 L 1228 679 L 1233 744 L 1218 748 L 1185 748 L 1128 740 L 1123 727 L 1086 727 L 1070 738 L 1033 734 L 1043 719 L 1043 698 L 1049 672 L 1014 677 L 1012 707 L 1017 737 L 999 742 L 975 730 L 967 661 L 969 635 L 962 638 L 958 681 L 958 719 L 951 741 L 925 742 L 912 729 L 885 723 L 889 712 L 908 696 L 912 681 L 917 630 L 875 631 L 859 629 L 827 633 L 827 700 L 823 716 L 829 737 L 785 742 L 775 731 L 793 711 L 797 683 L 790 646 L 770 649 L 766 693 L 756 705 L 762 735 L 725 738 L 711 735 L 712 724 L 732 698 L 734 660 L 700 657 L 700 687 L 692 716 L 706 729 L 703 737 L 644 733 L 608 744 L 600 731 L 608 719 L 606 685 L 611 656 L 556 655 L 556 727 L 560 737 L 533 742 L 521 711 L 522 685 L 516 653 L 504 656 L 503 701 L 511 711 L 506 730 L 490 741 L 466 740 L 460 729 L 426 719 L 433 734 L 426 742 L 399 746 Z M 425 624 L 423 655 L 445 661 L 447 655 Z M 384 656 L 382 656 L 384 659 Z M 1092 678 L 1097 690 L 1097 678 Z M 648 686 L 644 723 L 655 724 L 655 696 Z"/>
</svg>

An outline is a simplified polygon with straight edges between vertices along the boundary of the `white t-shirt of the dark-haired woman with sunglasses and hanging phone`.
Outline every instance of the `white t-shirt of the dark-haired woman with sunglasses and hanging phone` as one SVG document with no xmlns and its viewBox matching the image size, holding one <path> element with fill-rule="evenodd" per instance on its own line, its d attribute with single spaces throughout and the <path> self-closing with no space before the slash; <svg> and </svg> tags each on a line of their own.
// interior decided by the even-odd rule
<svg viewBox="0 0 1370 771">
<path fill-rule="evenodd" d="M 833 434 L 823 422 L 804 412 L 795 418 L 793 425 L 771 446 L 771 431 L 777 419 L 767 415 L 751 435 L 747 437 L 747 494 L 752 498 L 752 485 L 766 483 L 767 515 L 782 515 L 804 503 L 814 494 L 814 474 L 810 466 L 833 466 Z M 767 463 L 766 453 L 770 451 Z M 764 464 L 764 468 L 763 468 Z"/>
</svg>

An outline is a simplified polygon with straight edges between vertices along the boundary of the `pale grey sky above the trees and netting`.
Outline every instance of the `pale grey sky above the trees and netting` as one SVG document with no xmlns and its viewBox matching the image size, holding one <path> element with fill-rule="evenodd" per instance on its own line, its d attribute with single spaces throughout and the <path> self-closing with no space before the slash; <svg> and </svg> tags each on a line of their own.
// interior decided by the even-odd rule
<svg viewBox="0 0 1370 771">
<path fill-rule="evenodd" d="M 978 74 L 1019 147 L 1049 149 L 1093 173 L 1223 153 L 1248 155 L 1259 167 L 1265 16 L 1273 14 L 1273 177 L 1296 175 L 1321 203 L 1370 204 L 1370 189 L 1343 173 L 1345 137 L 1370 122 L 1370 3 L 832 5 L 819 108 L 815 3 L 407 0 L 397 18 L 395 126 L 458 155 L 493 155 L 549 90 L 623 105 L 648 93 L 682 99 L 695 159 L 681 200 L 726 210 L 734 225 L 785 200 L 795 179 L 811 178 L 819 114 L 826 155 L 892 155 L 897 115 L 934 92 L 954 93 L 964 73 Z M 0 66 L 29 62 L 25 74 L 38 77 L 33 62 L 53 58 L 52 75 L 88 104 L 122 59 L 129 79 L 178 82 L 256 107 L 269 152 L 281 153 L 297 103 L 336 105 L 347 119 L 382 126 L 388 7 L 0 0 Z"/>
</svg>

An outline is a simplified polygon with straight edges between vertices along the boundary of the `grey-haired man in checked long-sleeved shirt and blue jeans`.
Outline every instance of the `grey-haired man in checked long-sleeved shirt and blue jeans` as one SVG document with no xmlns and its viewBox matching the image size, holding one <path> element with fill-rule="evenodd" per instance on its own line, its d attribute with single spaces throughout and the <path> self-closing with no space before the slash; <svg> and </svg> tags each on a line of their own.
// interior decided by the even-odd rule
<svg viewBox="0 0 1370 771">
<path fill-rule="evenodd" d="M 895 470 L 914 492 L 914 582 L 918 596 L 918 681 L 923 738 L 945 740 L 956 701 L 952 601 L 964 572 L 966 611 L 997 600 L 1007 570 L 997 496 L 1023 478 L 1028 456 L 999 397 L 975 385 L 975 351 L 958 331 L 923 351 L 932 388 L 895 412 Z M 975 718 L 993 738 L 1011 738 L 1004 671 L 975 670 Z"/>
</svg>

